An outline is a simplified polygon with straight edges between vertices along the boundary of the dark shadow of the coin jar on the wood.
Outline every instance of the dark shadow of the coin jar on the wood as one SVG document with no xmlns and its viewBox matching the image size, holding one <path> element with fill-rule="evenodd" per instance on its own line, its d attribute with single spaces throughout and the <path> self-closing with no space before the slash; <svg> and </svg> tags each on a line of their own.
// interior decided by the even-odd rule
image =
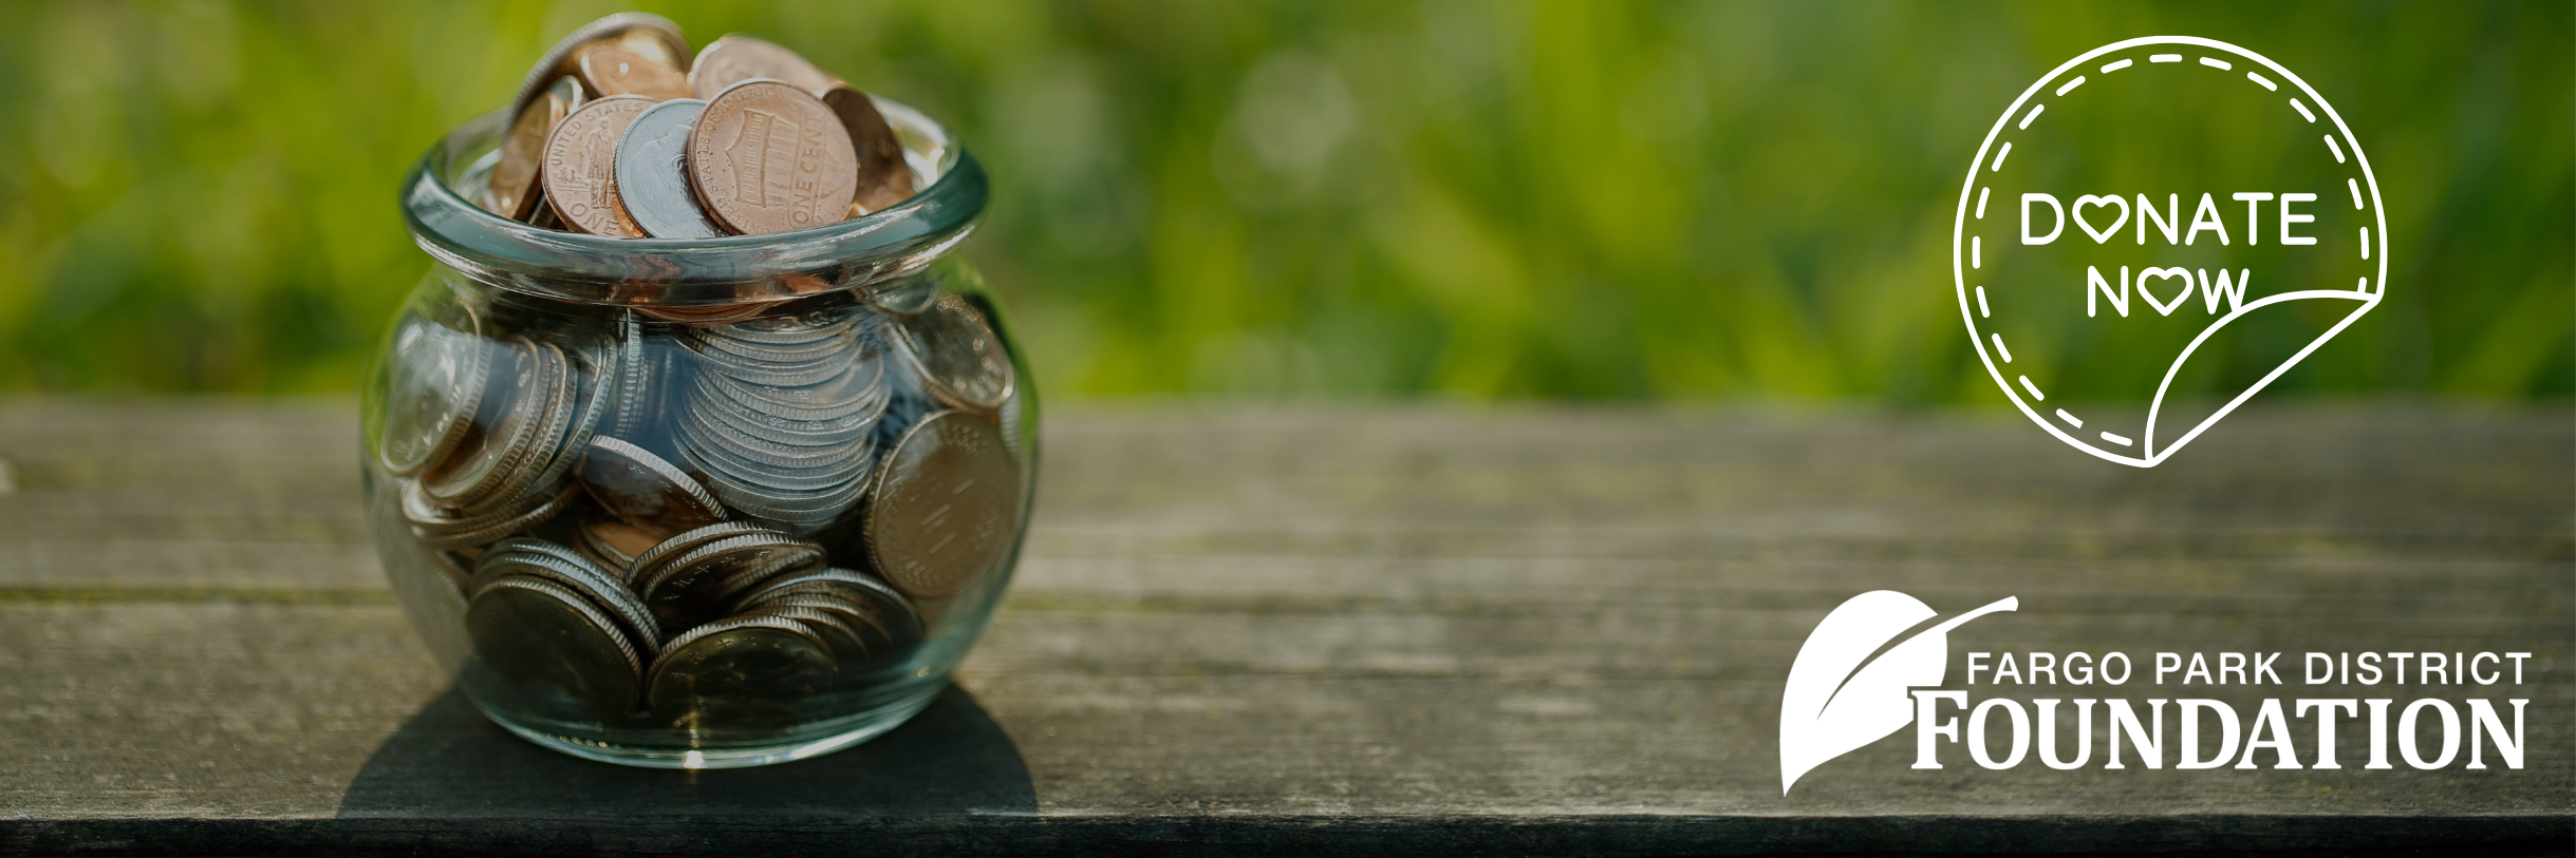
<svg viewBox="0 0 2576 858">
<path fill-rule="evenodd" d="M 652 770 L 528 745 L 448 691 L 350 781 L 353 817 L 930 817 L 1036 812 L 1018 745 L 951 685 L 904 727 L 832 755 L 734 770 Z"/>
</svg>

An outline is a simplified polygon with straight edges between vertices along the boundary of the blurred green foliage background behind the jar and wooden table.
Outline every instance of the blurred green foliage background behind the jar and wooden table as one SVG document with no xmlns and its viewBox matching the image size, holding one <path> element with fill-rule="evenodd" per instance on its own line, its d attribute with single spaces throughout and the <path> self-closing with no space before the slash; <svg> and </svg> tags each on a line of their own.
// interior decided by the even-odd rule
<svg viewBox="0 0 2576 858">
<path fill-rule="evenodd" d="M 1059 394 L 2002 407 L 1960 170 L 2151 33 L 2282 62 L 2370 147 L 2388 304 L 2275 389 L 2576 386 L 2568 3 L 631 5 L 956 124 Z M 428 265 L 402 170 L 618 8 L 0 5 L 0 389 L 353 389 Z"/>
</svg>

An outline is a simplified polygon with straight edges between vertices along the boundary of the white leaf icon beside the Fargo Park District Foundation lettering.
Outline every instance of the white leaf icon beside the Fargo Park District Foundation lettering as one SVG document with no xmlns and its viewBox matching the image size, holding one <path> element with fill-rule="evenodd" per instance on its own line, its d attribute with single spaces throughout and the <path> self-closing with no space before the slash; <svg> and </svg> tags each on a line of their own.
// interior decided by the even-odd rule
<svg viewBox="0 0 2576 858">
<path fill-rule="evenodd" d="M 2020 608 L 2017 598 L 1953 616 L 1911 639 L 1880 644 L 1935 616 L 1932 605 L 1870 590 L 1826 613 L 1798 647 L 1780 693 L 1780 794 L 1811 768 L 1914 724 L 1906 688 L 1940 685 L 1950 672 L 1950 629 L 1994 611 Z M 1868 665 L 1862 665 L 1868 660 Z"/>
</svg>

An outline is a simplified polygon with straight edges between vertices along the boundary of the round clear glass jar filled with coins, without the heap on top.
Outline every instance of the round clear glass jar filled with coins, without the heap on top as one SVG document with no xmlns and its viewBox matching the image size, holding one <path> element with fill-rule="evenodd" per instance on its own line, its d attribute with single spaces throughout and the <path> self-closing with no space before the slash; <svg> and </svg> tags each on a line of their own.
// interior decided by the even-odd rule
<svg viewBox="0 0 2576 858">
<path fill-rule="evenodd" d="M 1010 582 L 1038 407 L 956 247 L 981 165 L 891 100 L 920 193 L 719 240 L 471 204 L 505 116 L 404 180 L 435 260 L 376 358 L 368 520 L 404 613 L 510 732 L 729 768 L 894 729 Z"/>
</svg>

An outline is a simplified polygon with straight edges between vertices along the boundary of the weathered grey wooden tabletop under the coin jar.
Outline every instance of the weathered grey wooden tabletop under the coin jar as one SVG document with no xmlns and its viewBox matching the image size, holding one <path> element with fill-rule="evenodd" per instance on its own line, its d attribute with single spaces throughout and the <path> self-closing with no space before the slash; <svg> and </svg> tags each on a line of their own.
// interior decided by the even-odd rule
<svg viewBox="0 0 2576 858">
<path fill-rule="evenodd" d="M 484 724 L 386 595 L 350 402 L 0 405 L 0 853 L 2398 850 L 2576 837 L 2576 415 L 2272 405 L 2138 472 L 2017 415 L 1061 407 L 958 688 L 762 770 Z M 1806 634 L 2532 652 L 2522 770 L 1914 770 L 1780 794 Z M 2128 688 L 2056 696 L 2385 696 Z M 2396 698 L 2416 696 L 2398 691 Z M 2298 719 L 2300 755 L 2308 719 Z"/>
</svg>

